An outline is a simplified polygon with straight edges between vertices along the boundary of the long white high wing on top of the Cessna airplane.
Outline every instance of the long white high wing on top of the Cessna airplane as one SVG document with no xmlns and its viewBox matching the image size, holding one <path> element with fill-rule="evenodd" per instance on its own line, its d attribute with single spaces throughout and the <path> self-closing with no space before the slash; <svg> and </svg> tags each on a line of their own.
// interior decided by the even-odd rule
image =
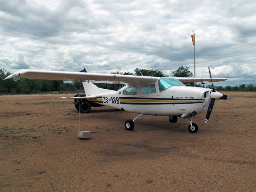
<svg viewBox="0 0 256 192">
<path fill-rule="evenodd" d="M 47 79 L 47 80 L 77 80 L 77 81 L 104 81 L 123 84 L 147 84 L 159 80 L 159 77 L 149 76 L 133 76 L 118 74 L 101 74 L 101 73 L 81 73 L 81 72 L 65 72 L 65 71 L 44 71 L 44 70 L 19 70 L 10 74 L 5 79 L 12 78 L 31 78 L 31 79 Z M 201 82 L 211 81 L 210 78 L 184 78 L 175 77 L 181 82 Z M 212 78 L 213 82 L 225 81 L 226 78 Z"/>
</svg>

